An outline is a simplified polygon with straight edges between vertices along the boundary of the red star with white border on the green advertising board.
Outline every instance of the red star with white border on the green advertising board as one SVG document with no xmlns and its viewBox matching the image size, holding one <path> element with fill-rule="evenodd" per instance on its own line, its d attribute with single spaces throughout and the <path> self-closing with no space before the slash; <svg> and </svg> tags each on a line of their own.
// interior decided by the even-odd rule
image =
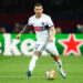
<svg viewBox="0 0 83 83">
<path fill-rule="evenodd" d="M 59 40 L 59 42 L 64 46 L 63 54 L 69 55 L 74 53 L 80 55 L 80 46 L 83 44 L 82 40 L 76 40 L 74 34 L 70 34 L 68 40 Z"/>
</svg>

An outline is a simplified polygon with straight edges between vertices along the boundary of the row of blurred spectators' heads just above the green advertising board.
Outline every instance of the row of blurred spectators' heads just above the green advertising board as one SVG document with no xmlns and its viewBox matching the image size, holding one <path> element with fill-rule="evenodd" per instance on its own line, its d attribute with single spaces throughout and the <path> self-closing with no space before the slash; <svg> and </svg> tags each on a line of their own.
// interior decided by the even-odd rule
<svg viewBox="0 0 83 83">
<path fill-rule="evenodd" d="M 15 22 L 12 25 L 11 31 L 9 31 L 9 29 L 7 29 L 6 27 L 0 27 L 0 33 L 19 33 L 23 29 L 23 27 L 24 27 L 24 24 L 21 24 L 20 22 Z M 64 33 L 64 31 L 60 27 L 56 27 L 55 31 L 56 31 L 56 33 Z M 29 29 L 24 33 L 34 33 L 34 30 Z M 65 32 L 65 33 L 69 33 L 69 32 Z M 82 24 L 76 24 L 76 31 L 74 30 L 73 33 L 83 33 L 83 25 Z"/>
</svg>

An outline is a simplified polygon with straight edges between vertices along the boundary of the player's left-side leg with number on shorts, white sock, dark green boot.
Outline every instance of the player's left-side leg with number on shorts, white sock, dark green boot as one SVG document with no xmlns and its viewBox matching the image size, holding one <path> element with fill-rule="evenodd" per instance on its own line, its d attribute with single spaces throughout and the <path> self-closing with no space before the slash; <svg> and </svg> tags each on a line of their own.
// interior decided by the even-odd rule
<svg viewBox="0 0 83 83">
<path fill-rule="evenodd" d="M 38 41 L 35 43 L 35 46 L 34 46 L 34 54 L 30 61 L 30 64 L 29 64 L 29 70 L 27 71 L 27 75 L 28 75 L 28 79 L 31 77 L 31 74 L 32 74 L 32 71 L 34 70 L 35 68 L 35 63 L 39 59 L 39 56 L 41 55 L 41 52 L 42 52 L 42 49 L 44 48 L 44 42 L 40 42 Z"/>
</svg>

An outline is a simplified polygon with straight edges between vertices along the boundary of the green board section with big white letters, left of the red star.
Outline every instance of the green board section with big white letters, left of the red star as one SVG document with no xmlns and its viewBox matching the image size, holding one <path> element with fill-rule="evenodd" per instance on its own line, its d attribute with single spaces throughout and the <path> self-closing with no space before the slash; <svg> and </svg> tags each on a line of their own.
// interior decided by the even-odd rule
<svg viewBox="0 0 83 83">
<path fill-rule="evenodd" d="M 24 34 L 17 40 L 17 34 L 0 34 L 0 55 L 33 55 L 34 44 L 33 35 Z M 43 55 L 48 53 L 43 51 Z"/>
</svg>

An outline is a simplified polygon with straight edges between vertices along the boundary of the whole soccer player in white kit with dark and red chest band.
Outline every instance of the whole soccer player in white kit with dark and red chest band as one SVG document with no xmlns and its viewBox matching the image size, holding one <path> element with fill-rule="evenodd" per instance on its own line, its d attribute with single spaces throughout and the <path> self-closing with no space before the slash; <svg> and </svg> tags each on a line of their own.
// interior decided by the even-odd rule
<svg viewBox="0 0 83 83">
<path fill-rule="evenodd" d="M 35 62 L 41 55 L 42 51 L 45 50 L 53 56 L 58 70 L 62 77 L 66 77 L 65 72 L 62 69 L 62 62 L 59 58 L 59 52 L 54 44 L 55 28 L 51 18 L 43 13 L 43 7 L 41 3 L 35 3 L 34 15 L 30 17 L 28 24 L 22 29 L 22 31 L 17 35 L 17 39 L 30 27 L 34 28 L 37 34 L 37 43 L 34 46 L 34 54 L 30 61 L 29 69 L 27 71 L 28 79 L 31 77 L 32 71 L 35 68 Z"/>
</svg>

